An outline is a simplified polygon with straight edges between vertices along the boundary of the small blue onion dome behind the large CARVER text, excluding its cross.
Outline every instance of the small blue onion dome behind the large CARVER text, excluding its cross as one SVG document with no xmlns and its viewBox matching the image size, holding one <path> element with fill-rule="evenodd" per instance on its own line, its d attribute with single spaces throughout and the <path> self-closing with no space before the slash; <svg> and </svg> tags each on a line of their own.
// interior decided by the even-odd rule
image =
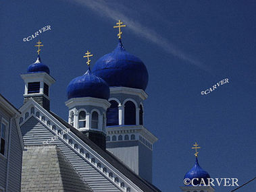
<svg viewBox="0 0 256 192">
<path fill-rule="evenodd" d="M 205 184 L 208 185 L 207 178 L 210 178 L 210 175 L 208 172 L 203 170 L 201 166 L 199 166 L 198 160 L 196 158 L 195 165 L 193 166 L 193 168 L 191 168 L 188 172 L 186 172 L 184 179 L 186 178 L 190 179 L 190 181 L 192 181 L 192 179 L 194 178 L 198 178 L 198 180 L 194 179 L 193 181 L 194 185 L 199 185 L 201 183 L 201 179 L 203 179 L 205 181 Z"/>
</svg>

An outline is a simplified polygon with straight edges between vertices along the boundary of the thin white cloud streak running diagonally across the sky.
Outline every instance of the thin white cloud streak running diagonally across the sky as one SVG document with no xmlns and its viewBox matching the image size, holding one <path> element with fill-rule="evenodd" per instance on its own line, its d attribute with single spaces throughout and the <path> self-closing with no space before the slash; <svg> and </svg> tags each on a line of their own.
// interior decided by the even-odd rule
<svg viewBox="0 0 256 192">
<path fill-rule="evenodd" d="M 101 0 L 73 0 L 72 2 L 76 2 L 84 7 L 88 7 L 90 9 L 93 9 L 93 11 L 96 11 L 97 13 L 101 14 L 103 17 L 107 17 L 112 20 L 119 20 L 122 18 L 122 20 L 128 24 L 127 27 L 130 28 L 134 34 L 141 36 L 143 38 L 146 38 L 153 44 L 156 44 L 161 49 L 163 49 L 166 53 L 170 53 L 175 57 L 178 57 L 179 59 L 182 59 L 183 61 L 186 61 L 188 63 L 191 63 L 193 65 L 196 65 L 200 69 L 203 69 L 205 71 L 209 71 L 209 69 L 203 65 L 200 61 L 197 61 L 193 59 L 190 55 L 183 53 L 180 51 L 170 40 L 167 38 L 163 38 L 155 30 L 152 30 L 151 28 L 148 28 L 147 26 L 143 26 L 139 22 L 132 20 L 132 18 L 127 17 L 122 13 L 121 11 L 117 11 L 110 7 L 105 1 Z"/>
</svg>

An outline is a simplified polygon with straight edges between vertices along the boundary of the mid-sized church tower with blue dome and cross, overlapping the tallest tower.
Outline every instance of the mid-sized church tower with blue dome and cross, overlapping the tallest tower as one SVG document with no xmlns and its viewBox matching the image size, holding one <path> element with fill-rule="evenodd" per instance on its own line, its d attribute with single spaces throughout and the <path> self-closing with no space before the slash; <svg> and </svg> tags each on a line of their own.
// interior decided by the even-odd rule
<svg viewBox="0 0 256 192">
<path fill-rule="evenodd" d="M 109 86 L 107 83 L 91 72 L 91 53 L 87 51 L 88 70 L 84 75 L 72 79 L 68 85 L 69 109 L 68 122 L 78 129 L 99 147 L 105 150 L 106 146 L 106 112 L 110 106 Z"/>
</svg>

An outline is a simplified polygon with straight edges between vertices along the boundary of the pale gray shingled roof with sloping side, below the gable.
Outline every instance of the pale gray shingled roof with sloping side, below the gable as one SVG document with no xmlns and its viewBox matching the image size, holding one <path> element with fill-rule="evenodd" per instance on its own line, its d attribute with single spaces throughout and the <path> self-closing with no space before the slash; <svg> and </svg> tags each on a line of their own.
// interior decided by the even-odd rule
<svg viewBox="0 0 256 192">
<path fill-rule="evenodd" d="M 93 191 L 57 146 L 27 146 L 21 191 Z"/>
</svg>

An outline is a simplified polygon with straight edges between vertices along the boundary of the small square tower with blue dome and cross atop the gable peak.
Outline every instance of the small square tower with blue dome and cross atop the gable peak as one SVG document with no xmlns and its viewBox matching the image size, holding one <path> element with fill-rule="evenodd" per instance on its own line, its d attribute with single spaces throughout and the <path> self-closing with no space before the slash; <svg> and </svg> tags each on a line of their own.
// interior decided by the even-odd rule
<svg viewBox="0 0 256 192">
<path fill-rule="evenodd" d="M 50 110 L 49 88 L 55 79 L 51 77 L 49 67 L 41 62 L 40 47 L 43 46 L 42 42 L 39 40 L 35 46 L 38 47 L 36 62 L 28 66 L 27 73 L 21 74 L 25 83 L 24 103 L 29 98 L 33 98 L 43 108 Z"/>
</svg>

